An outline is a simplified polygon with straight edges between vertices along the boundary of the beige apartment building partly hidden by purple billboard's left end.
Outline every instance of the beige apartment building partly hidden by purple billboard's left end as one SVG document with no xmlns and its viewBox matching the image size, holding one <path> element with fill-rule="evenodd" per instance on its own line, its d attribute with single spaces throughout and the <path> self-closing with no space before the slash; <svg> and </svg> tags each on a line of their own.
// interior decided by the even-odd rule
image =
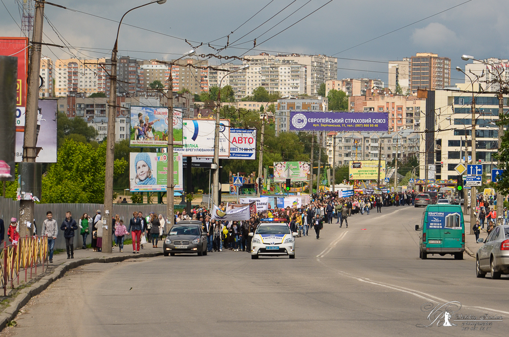
<svg viewBox="0 0 509 337">
<path fill-rule="evenodd" d="M 328 100 L 326 97 L 316 96 L 300 96 L 297 98 L 278 99 L 276 104 L 275 115 L 275 131 L 276 134 L 280 132 L 290 131 L 290 113 L 291 111 L 299 110 L 312 110 L 312 111 L 327 111 Z"/>
</svg>

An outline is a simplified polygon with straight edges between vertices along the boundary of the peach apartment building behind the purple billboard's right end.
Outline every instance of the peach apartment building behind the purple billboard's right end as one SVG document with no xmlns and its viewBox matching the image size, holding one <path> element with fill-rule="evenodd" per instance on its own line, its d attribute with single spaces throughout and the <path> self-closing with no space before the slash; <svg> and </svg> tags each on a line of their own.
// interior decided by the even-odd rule
<svg viewBox="0 0 509 337">
<path fill-rule="evenodd" d="M 417 96 L 403 96 L 375 93 L 374 96 L 351 96 L 348 98 L 352 113 L 373 112 L 389 114 L 389 130 L 419 130 L 421 116 L 426 111 L 426 99 Z"/>
</svg>

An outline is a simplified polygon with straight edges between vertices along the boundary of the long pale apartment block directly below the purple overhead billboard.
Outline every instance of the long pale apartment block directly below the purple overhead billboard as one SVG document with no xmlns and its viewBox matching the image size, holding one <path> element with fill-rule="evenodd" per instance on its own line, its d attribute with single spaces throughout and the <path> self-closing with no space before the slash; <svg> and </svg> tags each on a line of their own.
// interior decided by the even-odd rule
<svg viewBox="0 0 509 337">
<path fill-rule="evenodd" d="M 335 137 L 335 161 L 334 161 Z M 413 130 L 400 132 L 329 132 L 326 153 L 329 164 L 348 164 L 351 160 L 405 160 L 419 157 L 420 135 Z M 380 147 L 380 148 L 379 148 Z"/>
</svg>

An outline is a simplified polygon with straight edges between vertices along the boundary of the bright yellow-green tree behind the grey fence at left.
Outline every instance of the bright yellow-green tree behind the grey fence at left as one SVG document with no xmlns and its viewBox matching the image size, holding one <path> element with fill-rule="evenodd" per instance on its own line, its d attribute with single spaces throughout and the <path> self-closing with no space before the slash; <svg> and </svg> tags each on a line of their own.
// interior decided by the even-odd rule
<svg viewBox="0 0 509 337">
<path fill-rule="evenodd" d="M 66 139 L 58 151 L 58 162 L 42 179 L 43 203 L 104 202 L 106 143 L 97 149 L 90 144 Z M 114 176 L 127 167 L 124 159 L 115 160 Z"/>
</svg>

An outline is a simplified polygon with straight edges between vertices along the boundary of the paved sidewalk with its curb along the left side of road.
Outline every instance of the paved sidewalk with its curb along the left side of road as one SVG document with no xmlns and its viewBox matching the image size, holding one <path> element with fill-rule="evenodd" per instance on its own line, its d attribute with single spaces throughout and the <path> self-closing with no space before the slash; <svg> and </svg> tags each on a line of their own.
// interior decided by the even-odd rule
<svg viewBox="0 0 509 337">
<path fill-rule="evenodd" d="M 119 252 L 118 247 L 114 247 L 111 253 L 94 252 L 92 248 L 75 249 L 74 259 L 67 259 L 66 251 L 53 255 L 53 263 L 44 268 L 44 272 L 38 272 L 33 279 L 29 280 L 26 284 L 24 277 L 21 277 L 19 286 L 15 281 L 14 287 L 18 289 L 11 290 L 8 288 L 8 296 L 3 297 L 0 303 L 0 331 L 10 322 L 16 315 L 20 308 L 22 308 L 33 296 L 40 294 L 55 280 L 63 277 L 67 271 L 76 267 L 90 264 L 90 263 L 111 263 L 121 262 L 128 259 L 151 258 L 163 255 L 162 251 L 163 242 L 158 242 L 159 248 L 152 248 L 152 244 L 146 244 L 145 249 L 140 249 L 139 254 L 132 253 L 132 244 L 124 245 L 124 252 Z M 48 256 L 49 259 L 49 256 Z M 38 266 L 40 268 L 40 266 Z M 42 270 L 42 269 L 38 269 Z M 23 273 L 24 274 L 24 273 Z M 23 279 L 22 279 L 23 278 Z"/>
</svg>

